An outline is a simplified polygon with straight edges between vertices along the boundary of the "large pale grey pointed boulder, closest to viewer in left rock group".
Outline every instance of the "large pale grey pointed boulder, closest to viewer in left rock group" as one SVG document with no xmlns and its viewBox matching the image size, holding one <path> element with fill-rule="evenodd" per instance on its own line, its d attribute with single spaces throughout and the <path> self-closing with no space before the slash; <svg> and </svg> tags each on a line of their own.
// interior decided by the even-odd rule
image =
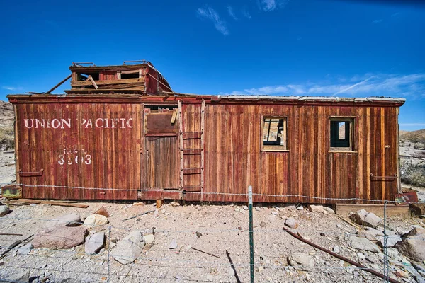
<svg viewBox="0 0 425 283">
<path fill-rule="evenodd" d="M 134 262 L 145 247 L 142 231 L 131 231 L 111 250 L 112 257 L 123 265 Z"/>
</svg>

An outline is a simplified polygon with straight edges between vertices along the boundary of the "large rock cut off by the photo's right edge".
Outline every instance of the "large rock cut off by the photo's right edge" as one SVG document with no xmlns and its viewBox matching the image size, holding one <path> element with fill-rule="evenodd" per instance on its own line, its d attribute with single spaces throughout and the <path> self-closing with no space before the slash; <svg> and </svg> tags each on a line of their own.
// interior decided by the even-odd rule
<svg viewBox="0 0 425 283">
<path fill-rule="evenodd" d="M 403 236 L 403 240 L 395 245 L 400 253 L 408 258 L 421 262 L 425 260 L 425 229 L 414 227 Z"/>
</svg>

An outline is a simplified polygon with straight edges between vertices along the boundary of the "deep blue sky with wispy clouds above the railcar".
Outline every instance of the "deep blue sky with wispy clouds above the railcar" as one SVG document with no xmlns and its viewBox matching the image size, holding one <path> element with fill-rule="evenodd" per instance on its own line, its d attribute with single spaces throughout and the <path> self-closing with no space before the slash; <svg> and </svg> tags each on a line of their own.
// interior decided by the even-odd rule
<svg viewBox="0 0 425 283">
<path fill-rule="evenodd" d="M 0 100 L 47 91 L 72 62 L 147 59 L 185 93 L 404 97 L 401 129 L 425 128 L 419 2 L 25 2 L 0 11 Z"/>
</svg>

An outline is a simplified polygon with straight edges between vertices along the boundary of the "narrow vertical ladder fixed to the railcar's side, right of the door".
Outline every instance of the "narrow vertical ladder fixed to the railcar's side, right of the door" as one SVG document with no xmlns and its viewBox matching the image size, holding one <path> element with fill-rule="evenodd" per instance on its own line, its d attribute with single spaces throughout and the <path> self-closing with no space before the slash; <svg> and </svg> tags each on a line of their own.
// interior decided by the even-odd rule
<svg viewBox="0 0 425 283">
<path fill-rule="evenodd" d="M 185 131 L 183 117 L 183 103 L 179 100 L 179 148 L 180 148 L 180 189 L 183 192 L 200 192 L 200 200 L 203 201 L 203 186 L 204 186 L 204 128 L 205 128 L 205 100 L 202 100 L 200 106 L 200 129 L 195 131 Z M 193 117 L 196 119 L 196 117 Z M 200 139 L 199 148 L 186 148 L 186 140 Z M 185 168 L 185 161 L 188 155 L 200 154 L 200 167 Z M 189 165 L 191 166 L 191 165 Z M 185 175 L 200 175 L 199 184 L 188 185 L 185 182 Z"/>
</svg>

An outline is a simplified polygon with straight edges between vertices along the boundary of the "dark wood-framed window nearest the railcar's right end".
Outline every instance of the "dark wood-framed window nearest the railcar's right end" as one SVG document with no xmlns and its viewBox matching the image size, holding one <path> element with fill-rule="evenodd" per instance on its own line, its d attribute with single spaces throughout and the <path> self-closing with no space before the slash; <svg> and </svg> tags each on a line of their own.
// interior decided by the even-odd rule
<svg viewBox="0 0 425 283">
<path fill-rule="evenodd" d="M 351 119 L 331 119 L 331 149 L 352 150 L 352 125 Z"/>
</svg>

